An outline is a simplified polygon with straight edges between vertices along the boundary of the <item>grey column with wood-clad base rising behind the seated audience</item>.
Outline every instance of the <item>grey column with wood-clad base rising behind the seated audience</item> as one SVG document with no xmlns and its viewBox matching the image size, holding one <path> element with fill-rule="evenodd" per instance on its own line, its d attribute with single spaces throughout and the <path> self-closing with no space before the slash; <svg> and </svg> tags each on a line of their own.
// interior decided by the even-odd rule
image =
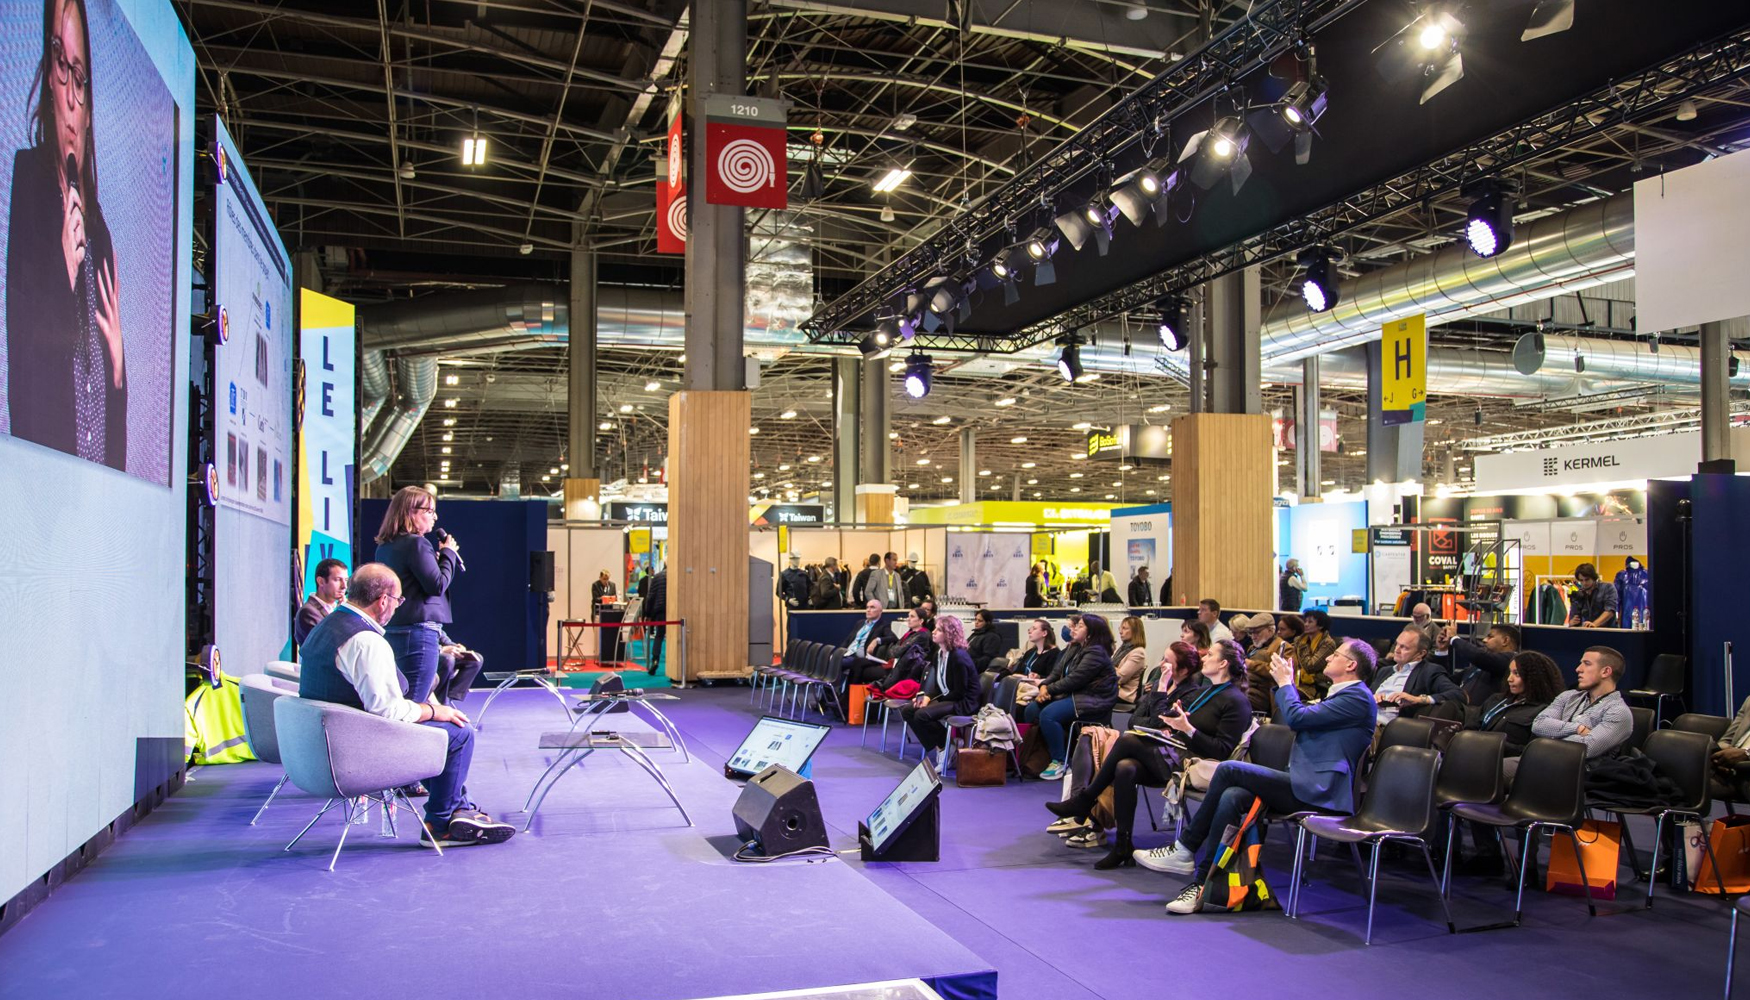
<svg viewBox="0 0 1750 1000">
<path fill-rule="evenodd" d="M 1172 602 L 1270 608 L 1276 450 L 1258 375 L 1256 270 L 1204 285 L 1192 412 L 1172 420 Z M 1208 359 L 1208 364 L 1204 361 Z"/>
</svg>

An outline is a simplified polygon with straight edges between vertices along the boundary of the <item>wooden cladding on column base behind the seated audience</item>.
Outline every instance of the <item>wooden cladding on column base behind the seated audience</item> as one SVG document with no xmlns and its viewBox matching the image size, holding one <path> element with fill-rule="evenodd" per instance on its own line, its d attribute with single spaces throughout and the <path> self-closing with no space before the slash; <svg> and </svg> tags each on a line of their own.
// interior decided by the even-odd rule
<svg viewBox="0 0 1750 1000">
<path fill-rule="evenodd" d="M 1172 602 L 1274 608 L 1270 419 L 1186 413 L 1172 420 Z"/>
</svg>

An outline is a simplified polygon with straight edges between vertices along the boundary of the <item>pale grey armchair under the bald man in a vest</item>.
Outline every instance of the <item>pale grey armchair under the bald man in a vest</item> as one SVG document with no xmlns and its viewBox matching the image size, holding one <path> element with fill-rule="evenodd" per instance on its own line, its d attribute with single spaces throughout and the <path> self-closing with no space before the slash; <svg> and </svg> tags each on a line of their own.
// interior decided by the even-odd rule
<svg viewBox="0 0 1750 1000">
<path fill-rule="evenodd" d="M 450 741 L 434 727 L 390 722 L 332 702 L 282 697 L 273 702 L 273 722 L 287 778 L 304 792 L 326 799 L 285 849 L 296 848 L 334 802 L 345 802 L 340 844 L 329 858 L 331 872 L 346 846 L 354 820 L 362 818 L 373 804 L 382 806 L 387 816 L 396 802 L 402 802 L 420 816 L 401 786 L 443 772 L 450 750 Z M 420 825 L 424 823 L 422 818 Z"/>
</svg>

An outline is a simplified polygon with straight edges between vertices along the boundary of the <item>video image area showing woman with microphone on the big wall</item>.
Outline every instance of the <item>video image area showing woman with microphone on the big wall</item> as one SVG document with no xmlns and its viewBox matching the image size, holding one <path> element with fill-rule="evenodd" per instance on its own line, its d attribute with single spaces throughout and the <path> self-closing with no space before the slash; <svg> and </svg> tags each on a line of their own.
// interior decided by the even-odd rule
<svg viewBox="0 0 1750 1000">
<path fill-rule="evenodd" d="M 86 11 L 44 37 L 44 4 L 0 7 L 0 431 L 170 485 L 177 103 L 126 18 Z"/>
</svg>

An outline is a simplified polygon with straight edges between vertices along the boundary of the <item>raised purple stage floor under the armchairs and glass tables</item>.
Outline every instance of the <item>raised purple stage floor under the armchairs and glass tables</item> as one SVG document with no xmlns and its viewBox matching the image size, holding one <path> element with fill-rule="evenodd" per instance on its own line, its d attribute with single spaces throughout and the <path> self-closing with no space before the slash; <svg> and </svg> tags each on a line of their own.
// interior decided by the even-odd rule
<svg viewBox="0 0 1750 1000">
<path fill-rule="evenodd" d="M 604 729 L 644 729 L 611 718 Z M 564 727 L 546 692 L 502 695 L 476 744 L 471 795 L 495 816 L 520 807 L 551 760 L 536 750 L 541 732 Z M 406 820 L 401 841 L 378 839 L 373 813 L 332 874 L 334 811 L 285 853 L 315 799 L 287 788 L 250 828 L 278 769 L 200 769 L 0 937 L 0 996 L 684 1000 L 994 981 L 989 961 L 845 862 L 724 858 L 707 837 L 733 839 L 738 786 L 714 741 L 691 743 L 691 764 L 653 760 L 696 827 L 630 760 L 597 753 L 560 781 L 528 835 L 439 858 Z"/>
</svg>

